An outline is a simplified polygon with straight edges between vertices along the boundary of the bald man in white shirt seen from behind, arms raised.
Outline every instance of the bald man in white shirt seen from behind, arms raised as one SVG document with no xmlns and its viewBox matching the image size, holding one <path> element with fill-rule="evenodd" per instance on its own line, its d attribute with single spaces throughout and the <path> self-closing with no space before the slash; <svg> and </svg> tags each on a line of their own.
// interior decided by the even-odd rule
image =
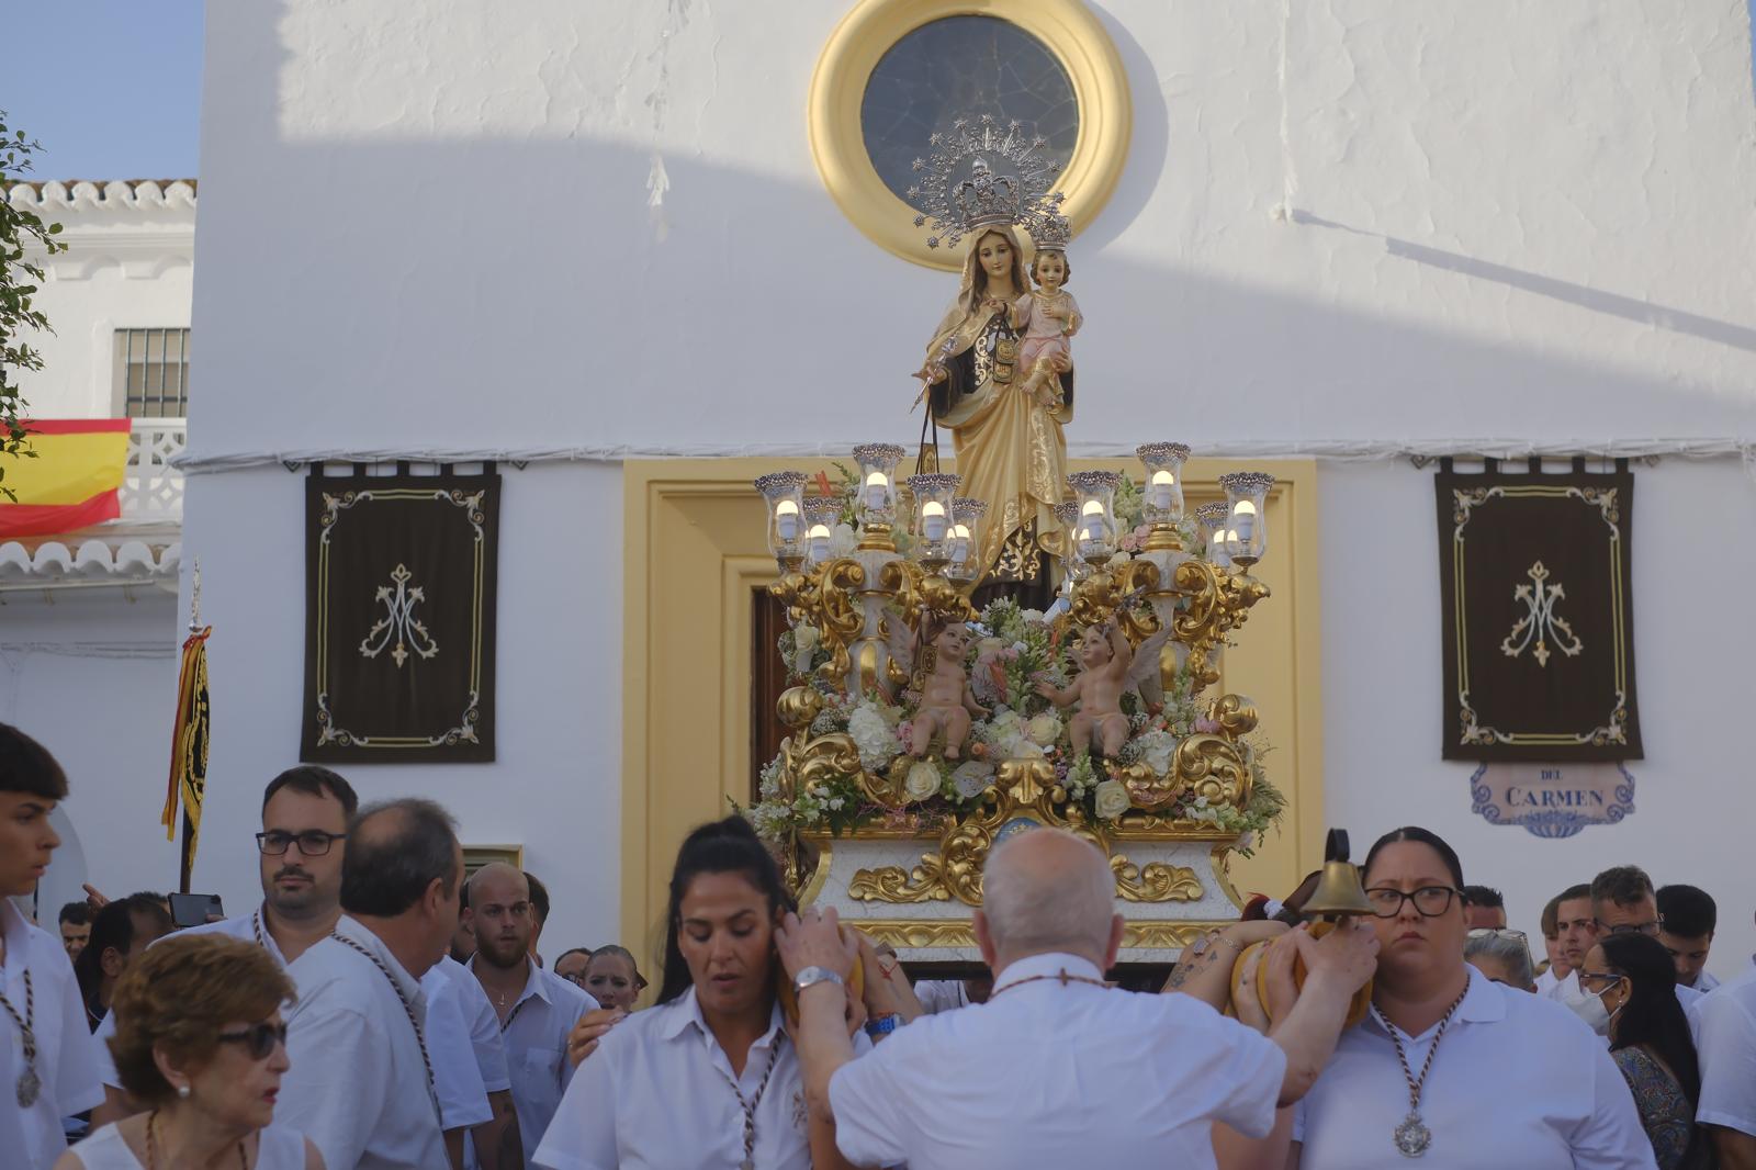
<svg viewBox="0 0 1756 1170">
<path fill-rule="evenodd" d="M 1031 829 L 989 854 L 975 914 L 987 1003 L 925 1015 L 853 1059 L 841 982 L 859 954 L 836 912 L 787 915 L 778 945 L 801 1003 L 811 1107 L 857 1166 L 1213 1166 L 1213 1123 L 1263 1137 L 1335 1049 L 1371 975 L 1370 929 L 1289 935 L 1310 970 L 1263 1035 L 1192 996 L 1112 989 L 1115 877 L 1089 841 Z M 1020 1109 L 1054 1101 L 1057 1109 Z M 1069 1117 L 1076 1123 L 1069 1123 Z"/>
</svg>

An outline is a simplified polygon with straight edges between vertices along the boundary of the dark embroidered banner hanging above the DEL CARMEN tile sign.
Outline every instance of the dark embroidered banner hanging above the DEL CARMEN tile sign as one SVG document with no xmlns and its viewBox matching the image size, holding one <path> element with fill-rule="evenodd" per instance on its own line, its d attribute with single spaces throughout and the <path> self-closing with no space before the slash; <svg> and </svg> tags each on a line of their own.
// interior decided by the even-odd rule
<svg viewBox="0 0 1756 1170">
<path fill-rule="evenodd" d="M 1436 476 L 1443 757 L 1640 759 L 1624 464 Z"/>
</svg>

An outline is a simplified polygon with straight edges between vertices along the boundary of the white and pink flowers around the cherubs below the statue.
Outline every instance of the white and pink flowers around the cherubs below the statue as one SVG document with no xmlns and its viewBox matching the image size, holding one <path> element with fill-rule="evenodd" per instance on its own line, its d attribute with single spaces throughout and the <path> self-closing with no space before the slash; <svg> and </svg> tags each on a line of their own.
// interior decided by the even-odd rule
<svg viewBox="0 0 1756 1170">
<path fill-rule="evenodd" d="M 1115 822 L 1127 813 L 1133 803 L 1124 784 L 1090 754 L 1075 757 L 1068 734 L 1071 713 L 1038 694 L 1040 682 L 1064 687 L 1078 671 L 1073 648 L 1062 643 L 1055 625 L 1036 610 L 1020 610 L 1017 603 L 1001 599 L 971 622 L 971 634 L 964 668 L 969 689 L 987 715 L 975 719 L 961 759 L 910 755 L 913 696 L 904 694 L 899 703 L 876 692 L 845 696 L 818 673 L 829 652 L 815 627 L 799 625 L 781 634 L 778 650 L 790 682 L 811 687 L 820 699 L 815 720 L 801 729 L 797 740 L 846 734 L 859 752 L 860 769 L 887 778 L 890 791 L 903 792 L 910 805 L 896 810 L 874 803 L 857 773 L 817 780 L 811 791 L 787 799 L 781 792 L 783 757 L 776 755 L 762 769 L 760 799 L 748 810 L 757 833 L 785 841 L 799 831 L 839 836 L 874 824 L 934 829 L 973 810 L 994 784 L 996 762 L 1006 759 L 1050 762 L 1055 782 L 1066 791 L 1066 808 L 1080 808 L 1089 822 Z M 1162 703 L 1148 706 L 1131 690 L 1122 697 L 1122 711 L 1129 717 L 1129 738 L 1113 762 L 1141 762 L 1159 776 L 1171 771 L 1180 740 L 1219 731 L 1198 708 L 1187 669 L 1177 675 Z M 1154 812 L 1229 833 L 1250 833 L 1252 838 L 1240 849 L 1249 856 L 1254 838 L 1278 820 L 1285 799 L 1261 768 L 1266 745 L 1245 741 L 1243 747 L 1254 778 L 1245 808 L 1208 806 L 1205 798 L 1187 798 Z"/>
</svg>

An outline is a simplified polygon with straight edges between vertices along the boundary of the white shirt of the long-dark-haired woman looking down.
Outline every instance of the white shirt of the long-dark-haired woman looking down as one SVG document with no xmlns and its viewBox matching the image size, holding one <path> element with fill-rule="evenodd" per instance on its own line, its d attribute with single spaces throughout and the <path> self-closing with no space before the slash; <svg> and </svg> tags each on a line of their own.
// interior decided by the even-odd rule
<svg viewBox="0 0 1756 1170">
<path fill-rule="evenodd" d="M 776 1044 L 774 1072 L 757 1100 Z M 871 1051 L 864 1035 L 855 1038 L 860 1051 Z M 780 1031 L 780 1007 L 734 1077 L 690 987 L 629 1015 L 599 1042 L 574 1072 L 534 1161 L 550 1170 L 736 1170 L 745 1161 L 739 1093 L 755 1101 L 755 1165 L 811 1170 L 804 1084 L 794 1044 Z"/>
</svg>

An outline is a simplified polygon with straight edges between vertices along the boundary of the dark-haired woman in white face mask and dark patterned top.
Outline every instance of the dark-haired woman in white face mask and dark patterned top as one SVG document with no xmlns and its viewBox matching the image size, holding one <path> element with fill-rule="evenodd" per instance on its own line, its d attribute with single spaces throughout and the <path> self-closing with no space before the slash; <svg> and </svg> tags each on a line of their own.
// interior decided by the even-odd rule
<svg viewBox="0 0 1756 1170">
<path fill-rule="evenodd" d="M 1659 1170 L 1712 1165 L 1695 1128 L 1702 1073 L 1670 952 L 1647 935 L 1605 935 L 1586 952 L 1579 986 L 1603 1003 L 1610 1056 L 1635 1094 Z"/>
</svg>

